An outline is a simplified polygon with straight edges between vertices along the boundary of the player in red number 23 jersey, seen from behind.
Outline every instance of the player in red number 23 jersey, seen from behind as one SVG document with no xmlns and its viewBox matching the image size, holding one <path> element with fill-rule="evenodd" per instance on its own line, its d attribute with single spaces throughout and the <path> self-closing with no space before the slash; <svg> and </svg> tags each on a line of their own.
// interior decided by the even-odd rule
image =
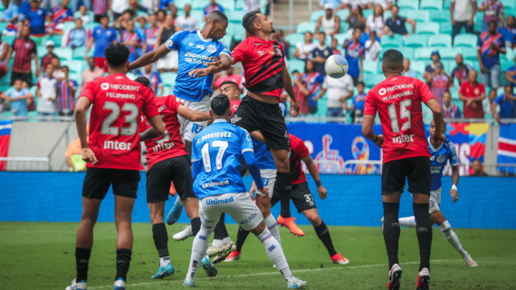
<svg viewBox="0 0 516 290">
<path fill-rule="evenodd" d="M 117 239 L 115 289 L 125 289 L 132 249 L 131 213 L 137 198 L 140 140 L 162 136 L 165 125 L 158 115 L 152 91 L 126 77 L 129 50 L 111 44 L 105 51 L 109 76 L 88 82 L 75 107 L 82 160 L 88 171 L 82 188 L 82 216 L 77 231 L 75 259 L 77 276 L 68 290 L 86 289 L 88 262 L 93 246 L 93 227 L 100 203 L 113 186 Z M 86 111 L 91 107 L 90 136 L 86 132 Z M 139 135 L 139 116 L 152 126 Z"/>
</svg>

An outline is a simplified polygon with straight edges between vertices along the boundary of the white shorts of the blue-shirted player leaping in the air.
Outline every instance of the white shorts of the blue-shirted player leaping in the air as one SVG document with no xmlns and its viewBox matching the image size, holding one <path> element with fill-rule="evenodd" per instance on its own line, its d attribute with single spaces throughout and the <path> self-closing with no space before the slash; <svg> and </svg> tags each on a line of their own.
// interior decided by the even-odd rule
<svg viewBox="0 0 516 290">
<path fill-rule="evenodd" d="M 193 111 L 210 111 L 210 96 L 205 96 L 205 98 L 201 99 L 199 102 L 194 102 L 179 97 L 177 97 L 177 101 L 180 101 L 181 103 L 183 103 L 183 105 L 185 105 L 186 108 L 189 108 Z M 180 115 L 177 115 L 177 119 L 179 120 L 179 123 L 181 123 L 179 133 L 181 134 L 181 136 L 183 136 L 183 139 L 185 141 L 194 141 L 194 138 L 197 136 L 197 134 L 201 132 L 201 130 L 205 128 L 205 126 L 208 126 L 208 121 L 192 122 L 188 120 L 186 117 L 182 117 Z"/>
</svg>

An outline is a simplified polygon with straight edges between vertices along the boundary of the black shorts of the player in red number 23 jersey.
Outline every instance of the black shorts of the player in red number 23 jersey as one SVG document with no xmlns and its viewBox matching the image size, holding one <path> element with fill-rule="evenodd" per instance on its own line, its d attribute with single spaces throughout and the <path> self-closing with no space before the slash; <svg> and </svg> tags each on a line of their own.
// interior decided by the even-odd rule
<svg viewBox="0 0 516 290">
<path fill-rule="evenodd" d="M 115 195 L 136 199 L 139 179 L 138 170 L 88 168 L 82 186 L 82 196 L 103 200 L 113 184 Z"/>
</svg>

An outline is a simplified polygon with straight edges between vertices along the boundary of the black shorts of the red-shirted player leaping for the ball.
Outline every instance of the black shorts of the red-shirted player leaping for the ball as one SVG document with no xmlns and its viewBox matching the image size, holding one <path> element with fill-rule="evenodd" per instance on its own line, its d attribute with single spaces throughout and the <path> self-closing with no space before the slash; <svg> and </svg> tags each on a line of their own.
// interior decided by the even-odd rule
<svg viewBox="0 0 516 290">
<path fill-rule="evenodd" d="M 268 104 L 245 96 L 236 109 L 231 123 L 247 132 L 260 130 L 268 148 L 289 150 L 291 139 L 279 104 Z"/>
</svg>

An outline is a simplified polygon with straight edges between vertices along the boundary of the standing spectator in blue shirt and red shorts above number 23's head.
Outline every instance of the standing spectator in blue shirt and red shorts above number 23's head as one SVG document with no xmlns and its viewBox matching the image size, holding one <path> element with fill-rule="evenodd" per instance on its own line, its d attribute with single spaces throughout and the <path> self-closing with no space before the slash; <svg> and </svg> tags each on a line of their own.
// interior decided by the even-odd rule
<svg viewBox="0 0 516 290">
<path fill-rule="evenodd" d="M 95 51 L 93 51 L 95 63 L 99 68 L 104 69 L 106 72 L 108 71 L 104 67 L 104 63 L 106 62 L 104 51 L 111 43 L 117 42 L 117 31 L 110 27 L 109 24 L 110 18 L 108 15 L 102 15 L 102 17 L 100 17 L 100 25 L 93 29 L 91 38 L 86 45 L 86 53 L 84 53 L 84 60 L 88 60 L 88 52 L 91 50 L 93 42 L 95 42 Z"/>
</svg>

